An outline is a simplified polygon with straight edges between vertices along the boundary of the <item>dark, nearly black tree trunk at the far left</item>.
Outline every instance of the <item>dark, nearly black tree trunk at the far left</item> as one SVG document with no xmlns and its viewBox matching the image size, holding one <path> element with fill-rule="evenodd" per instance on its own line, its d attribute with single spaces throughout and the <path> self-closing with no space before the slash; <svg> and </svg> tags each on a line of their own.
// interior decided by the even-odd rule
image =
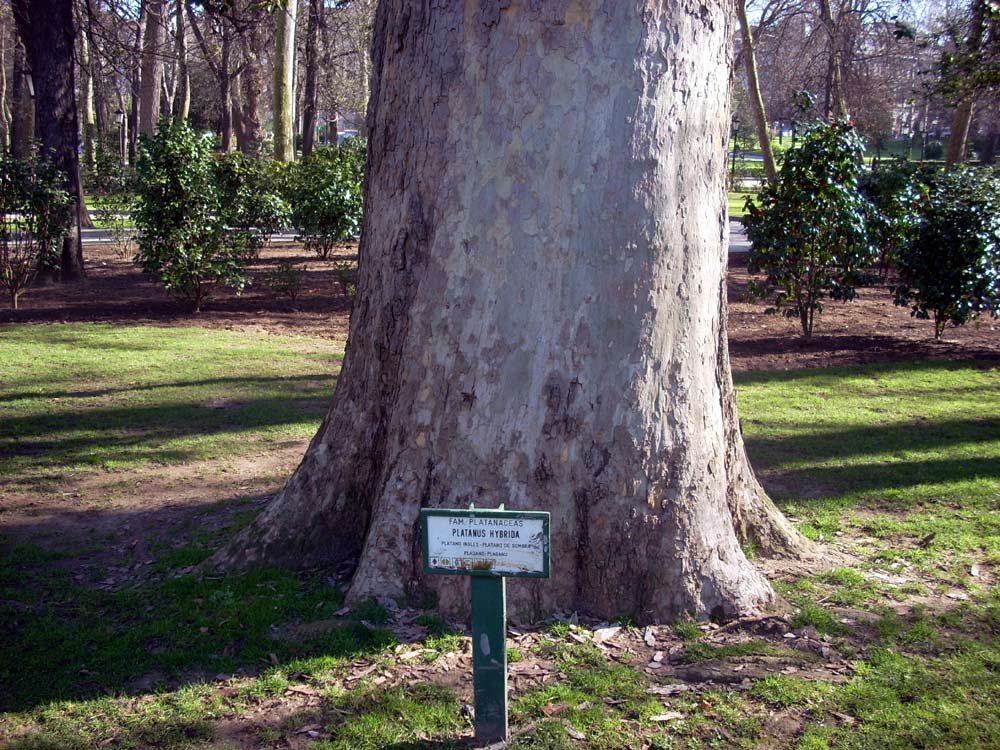
<svg viewBox="0 0 1000 750">
<path fill-rule="evenodd" d="M 63 281 L 84 275 L 80 227 L 86 213 L 80 184 L 76 112 L 76 22 L 72 0 L 14 0 L 17 23 L 35 88 L 35 135 L 65 175 L 66 191 L 74 198 L 59 258 Z"/>
</svg>

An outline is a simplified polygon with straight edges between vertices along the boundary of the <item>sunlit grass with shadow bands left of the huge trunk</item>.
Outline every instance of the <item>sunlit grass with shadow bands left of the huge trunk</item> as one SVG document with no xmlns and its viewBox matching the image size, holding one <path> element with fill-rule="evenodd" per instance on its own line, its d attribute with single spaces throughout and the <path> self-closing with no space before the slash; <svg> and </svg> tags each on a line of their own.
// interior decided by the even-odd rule
<svg viewBox="0 0 1000 750">
<path fill-rule="evenodd" d="M 308 439 L 342 347 L 204 328 L 0 331 L 0 487 L 245 456 Z"/>
</svg>

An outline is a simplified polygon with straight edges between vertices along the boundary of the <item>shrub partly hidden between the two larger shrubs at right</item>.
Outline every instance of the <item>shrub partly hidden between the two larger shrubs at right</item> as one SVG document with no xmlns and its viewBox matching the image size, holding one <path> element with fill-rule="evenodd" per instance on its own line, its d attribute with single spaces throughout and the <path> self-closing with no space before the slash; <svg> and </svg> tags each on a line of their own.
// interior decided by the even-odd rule
<svg viewBox="0 0 1000 750">
<path fill-rule="evenodd" d="M 920 206 L 927 192 L 921 174 L 913 162 L 894 159 L 866 172 L 858 181 L 862 195 L 874 209 L 868 214 L 868 231 L 883 281 L 920 225 Z"/>
</svg>

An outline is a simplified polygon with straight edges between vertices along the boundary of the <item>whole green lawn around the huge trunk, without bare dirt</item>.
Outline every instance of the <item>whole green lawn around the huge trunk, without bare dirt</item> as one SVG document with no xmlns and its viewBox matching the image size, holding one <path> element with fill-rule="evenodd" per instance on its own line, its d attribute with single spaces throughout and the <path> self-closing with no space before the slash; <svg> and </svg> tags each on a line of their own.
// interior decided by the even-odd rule
<svg viewBox="0 0 1000 750">
<path fill-rule="evenodd" d="M 329 342 L 226 331 L 2 329 L 0 481 L 58 491 L 66 467 L 128 475 L 303 440 L 339 356 Z M 737 389 L 768 490 L 807 535 L 858 560 L 776 582 L 793 626 L 849 660 L 845 679 L 774 669 L 661 699 L 642 672 L 555 623 L 512 652 L 548 659 L 556 675 L 513 701 L 515 731 L 529 731 L 512 746 L 1000 747 L 1000 371 L 743 373 Z M 310 731 L 319 750 L 460 746 L 469 725 L 447 675 L 464 667 L 441 684 L 379 682 L 414 646 L 431 669 L 467 648 L 433 613 L 417 620 L 426 638 L 397 645 L 377 604 L 338 616 L 342 593 L 323 571 L 187 571 L 247 518 L 171 540 L 155 575 L 115 591 L 79 583 L 73 549 L 0 536 L 0 746 L 235 750 L 301 744 Z M 720 644 L 686 621 L 672 632 L 682 665 L 795 653 L 780 635 Z"/>
</svg>

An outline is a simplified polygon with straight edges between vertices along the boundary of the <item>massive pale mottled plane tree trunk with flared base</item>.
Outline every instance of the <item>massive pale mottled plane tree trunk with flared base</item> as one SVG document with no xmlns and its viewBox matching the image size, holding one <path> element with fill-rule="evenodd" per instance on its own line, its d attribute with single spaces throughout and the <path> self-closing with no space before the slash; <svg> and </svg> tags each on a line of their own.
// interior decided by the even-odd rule
<svg viewBox="0 0 1000 750">
<path fill-rule="evenodd" d="M 464 611 L 465 581 L 421 572 L 419 509 L 506 503 L 552 513 L 518 616 L 771 603 L 737 527 L 805 544 L 753 479 L 726 354 L 731 17 L 646 7 L 380 3 L 333 405 L 214 564 L 357 560 L 350 601 Z"/>
</svg>

